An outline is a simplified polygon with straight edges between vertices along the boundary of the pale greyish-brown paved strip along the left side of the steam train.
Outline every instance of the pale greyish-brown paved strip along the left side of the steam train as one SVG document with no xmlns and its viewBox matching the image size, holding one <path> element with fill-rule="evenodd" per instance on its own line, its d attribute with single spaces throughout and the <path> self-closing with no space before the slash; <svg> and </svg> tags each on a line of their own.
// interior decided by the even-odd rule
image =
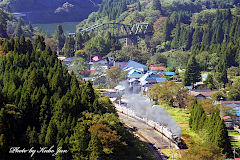
<svg viewBox="0 0 240 160">
<path fill-rule="evenodd" d="M 118 112 L 118 115 L 120 120 L 127 126 L 136 127 L 136 133 L 139 134 L 140 137 L 144 137 L 143 139 L 147 141 L 147 143 L 151 142 L 152 145 L 156 148 L 159 155 L 161 155 L 161 149 L 169 148 L 169 140 L 143 121 L 129 117 L 121 112 Z M 162 157 L 162 159 L 164 159 L 164 157 Z"/>
</svg>

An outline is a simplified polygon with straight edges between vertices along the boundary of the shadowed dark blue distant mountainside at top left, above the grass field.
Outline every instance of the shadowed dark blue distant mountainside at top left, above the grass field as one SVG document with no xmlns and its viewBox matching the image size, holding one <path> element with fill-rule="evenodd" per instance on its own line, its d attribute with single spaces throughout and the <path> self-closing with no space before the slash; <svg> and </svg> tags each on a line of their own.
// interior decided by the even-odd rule
<svg viewBox="0 0 240 160">
<path fill-rule="evenodd" d="M 97 10 L 101 0 L 3 0 L 0 8 L 8 12 L 27 12 L 32 23 L 81 21 Z M 24 4 L 24 5 L 23 5 Z"/>
</svg>

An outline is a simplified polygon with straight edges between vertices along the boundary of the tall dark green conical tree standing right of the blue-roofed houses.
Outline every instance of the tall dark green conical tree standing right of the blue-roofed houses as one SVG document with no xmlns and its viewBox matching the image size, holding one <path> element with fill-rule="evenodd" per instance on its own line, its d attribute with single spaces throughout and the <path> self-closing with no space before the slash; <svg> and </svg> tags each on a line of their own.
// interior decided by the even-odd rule
<svg viewBox="0 0 240 160">
<path fill-rule="evenodd" d="M 188 60 L 187 68 L 184 74 L 183 83 L 185 86 L 193 85 L 201 80 L 201 72 L 199 70 L 199 64 L 194 56 L 191 56 Z"/>
</svg>

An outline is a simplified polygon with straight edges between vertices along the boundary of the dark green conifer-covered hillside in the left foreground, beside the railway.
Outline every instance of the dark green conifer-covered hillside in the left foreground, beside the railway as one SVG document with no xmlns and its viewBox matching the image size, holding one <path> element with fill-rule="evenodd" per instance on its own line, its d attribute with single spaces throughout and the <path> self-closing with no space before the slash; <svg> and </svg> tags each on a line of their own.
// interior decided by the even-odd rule
<svg viewBox="0 0 240 160">
<path fill-rule="evenodd" d="M 1 41 L 1 159 L 30 159 L 9 153 L 12 146 L 68 150 L 34 159 L 147 159 L 142 145 L 120 123 L 109 98 L 69 74 L 42 36 L 33 43 L 24 36 Z"/>
</svg>

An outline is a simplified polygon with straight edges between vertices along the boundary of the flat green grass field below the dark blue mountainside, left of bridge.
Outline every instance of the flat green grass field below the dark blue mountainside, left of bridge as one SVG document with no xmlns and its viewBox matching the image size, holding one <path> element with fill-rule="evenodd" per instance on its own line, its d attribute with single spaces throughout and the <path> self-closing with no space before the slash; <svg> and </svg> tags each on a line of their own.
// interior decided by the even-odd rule
<svg viewBox="0 0 240 160">
<path fill-rule="evenodd" d="M 63 31 L 65 33 L 75 33 L 76 32 L 76 25 L 80 22 L 65 22 L 65 23 L 50 23 L 50 24 L 33 24 L 33 27 L 38 27 L 44 32 L 48 32 L 53 34 L 56 32 L 56 28 L 58 24 L 63 26 Z"/>
</svg>

